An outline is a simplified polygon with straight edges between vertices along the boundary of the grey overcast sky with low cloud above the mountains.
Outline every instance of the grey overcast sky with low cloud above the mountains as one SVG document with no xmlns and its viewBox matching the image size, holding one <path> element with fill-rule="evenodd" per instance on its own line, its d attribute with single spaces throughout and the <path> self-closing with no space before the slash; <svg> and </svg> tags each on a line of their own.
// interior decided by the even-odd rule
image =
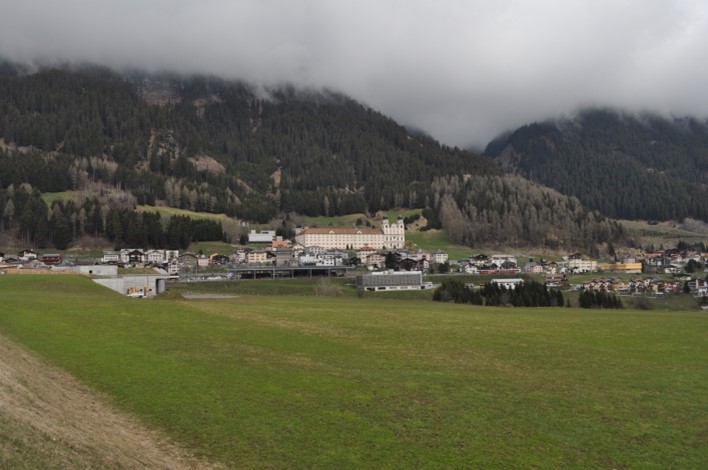
<svg viewBox="0 0 708 470">
<path fill-rule="evenodd" d="M 0 55 L 324 86 L 461 147 L 587 105 L 708 116 L 706 0 L 2 0 Z"/>
</svg>

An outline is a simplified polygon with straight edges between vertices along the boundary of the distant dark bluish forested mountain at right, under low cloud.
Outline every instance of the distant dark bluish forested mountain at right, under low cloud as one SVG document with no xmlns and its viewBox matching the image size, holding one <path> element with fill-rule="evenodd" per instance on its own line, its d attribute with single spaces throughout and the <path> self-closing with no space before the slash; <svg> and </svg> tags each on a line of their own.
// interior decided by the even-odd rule
<svg viewBox="0 0 708 470">
<path fill-rule="evenodd" d="M 586 110 L 521 127 L 485 155 L 623 219 L 708 221 L 708 123 Z"/>
</svg>

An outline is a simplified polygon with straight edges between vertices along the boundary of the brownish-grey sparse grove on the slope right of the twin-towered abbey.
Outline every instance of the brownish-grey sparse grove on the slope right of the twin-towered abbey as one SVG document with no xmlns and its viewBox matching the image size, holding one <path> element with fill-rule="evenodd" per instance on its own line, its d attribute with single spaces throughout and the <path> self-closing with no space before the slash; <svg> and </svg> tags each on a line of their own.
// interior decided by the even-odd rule
<svg viewBox="0 0 708 470">
<path fill-rule="evenodd" d="M 519 176 L 442 177 L 433 190 L 434 207 L 423 213 L 456 243 L 582 249 L 598 256 L 603 243 L 628 241 L 621 224 Z"/>
</svg>

